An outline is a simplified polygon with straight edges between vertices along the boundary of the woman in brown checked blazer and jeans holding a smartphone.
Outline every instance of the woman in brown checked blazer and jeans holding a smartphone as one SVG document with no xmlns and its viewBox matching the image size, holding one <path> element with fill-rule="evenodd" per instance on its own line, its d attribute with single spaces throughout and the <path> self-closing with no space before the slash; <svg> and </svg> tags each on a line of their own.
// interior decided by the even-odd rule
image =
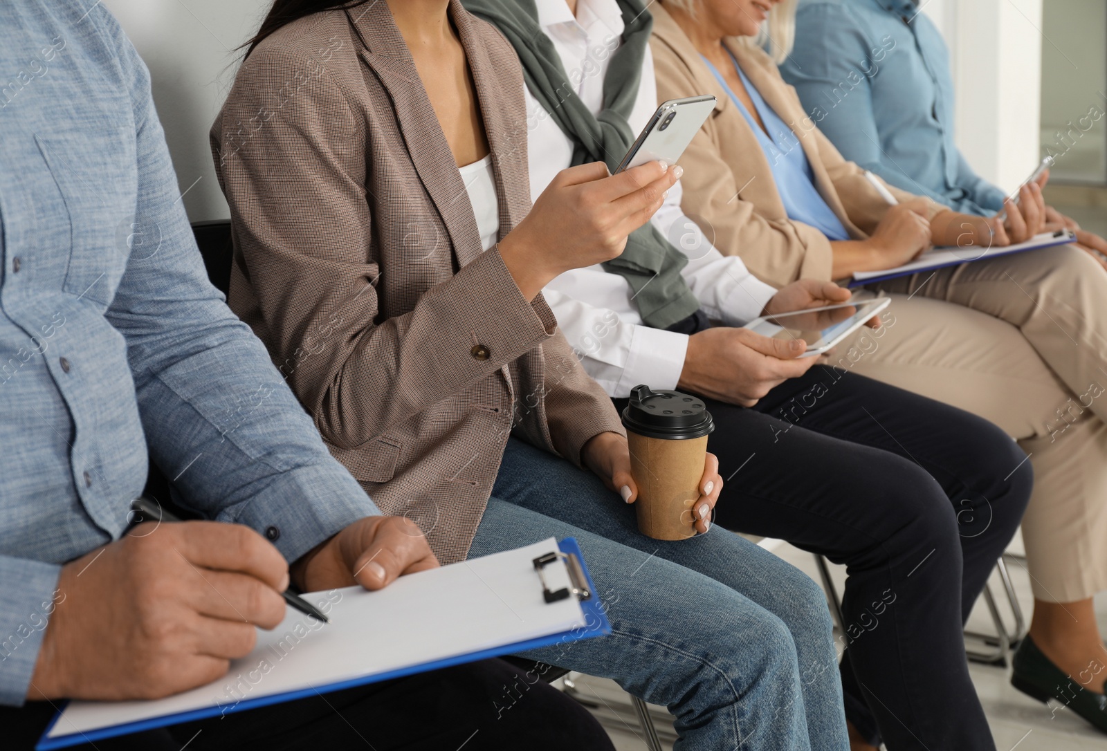
<svg viewBox="0 0 1107 751">
<path fill-rule="evenodd" d="M 619 416 L 540 293 L 618 255 L 680 170 L 581 165 L 531 209 L 523 91 L 510 45 L 457 0 L 277 0 L 211 131 L 231 307 L 442 563 L 579 540 L 612 634 L 529 655 L 669 706 L 677 748 L 841 751 L 832 671 L 799 677 L 834 665 L 821 592 L 708 531 L 711 456 L 701 534 L 638 532 Z M 756 604 L 774 598 L 783 616 Z"/>
</svg>

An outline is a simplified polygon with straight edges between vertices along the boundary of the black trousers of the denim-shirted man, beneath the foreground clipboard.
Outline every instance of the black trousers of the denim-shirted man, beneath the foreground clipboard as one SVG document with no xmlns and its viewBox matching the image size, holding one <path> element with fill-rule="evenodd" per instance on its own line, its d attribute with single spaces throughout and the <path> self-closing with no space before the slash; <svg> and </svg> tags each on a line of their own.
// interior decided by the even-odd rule
<svg viewBox="0 0 1107 751">
<path fill-rule="evenodd" d="M 33 749 L 46 702 L 0 708 L 0 748 Z M 423 672 L 309 699 L 74 747 L 76 751 L 614 751 L 572 699 L 501 660 Z"/>
</svg>

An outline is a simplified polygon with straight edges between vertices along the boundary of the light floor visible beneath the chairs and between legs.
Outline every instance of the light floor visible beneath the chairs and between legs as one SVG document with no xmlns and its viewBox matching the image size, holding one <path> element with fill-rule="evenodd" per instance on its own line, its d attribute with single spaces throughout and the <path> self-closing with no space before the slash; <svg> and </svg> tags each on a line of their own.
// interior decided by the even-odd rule
<svg viewBox="0 0 1107 751">
<path fill-rule="evenodd" d="M 775 552 L 798 566 L 817 581 L 815 562 L 809 553 L 780 543 Z M 1025 569 L 1018 564 L 1010 566 L 1011 576 L 1018 594 L 1020 603 L 1030 617 L 1033 598 L 1030 588 L 1030 577 Z M 840 592 L 841 572 L 835 571 Z M 999 581 L 993 577 L 993 590 L 1001 592 Z M 1107 597 L 1096 602 L 1100 629 L 1107 638 Z M 1001 603 L 1001 609 L 1007 611 Z M 983 603 L 980 603 L 970 618 L 971 630 L 994 632 L 992 620 Z M 1107 749 L 1107 734 L 1100 733 L 1084 720 L 1059 706 L 1045 707 L 1023 693 L 1016 691 L 1007 682 L 1007 672 L 1001 667 L 973 664 L 970 666 L 973 682 L 984 705 L 1000 751 L 1104 751 Z M 615 748 L 619 751 L 643 751 L 646 749 L 641 730 L 633 719 L 633 712 L 627 702 L 627 696 L 613 682 L 588 676 L 578 677 L 575 681 L 578 695 L 596 706 L 593 710 L 608 729 Z M 621 709 L 625 708 L 625 709 Z M 660 708 L 655 708 L 659 711 Z M 663 740 L 672 740 L 671 723 L 658 722 Z M 666 751 L 672 749 L 670 742 L 664 743 Z"/>
</svg>

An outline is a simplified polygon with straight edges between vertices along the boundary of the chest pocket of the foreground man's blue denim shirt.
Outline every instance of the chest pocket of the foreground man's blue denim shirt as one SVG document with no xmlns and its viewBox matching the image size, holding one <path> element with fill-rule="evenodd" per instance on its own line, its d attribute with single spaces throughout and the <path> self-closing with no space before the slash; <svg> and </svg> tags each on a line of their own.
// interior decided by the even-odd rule
<svg viewBox="0 0 1107 751">
<path fill-rule="evenodd" d="M 126 270 L 135 227 L 134 129 L 100 125 L 38 133 L 34 140 L 69 215 L 63 291 L 107 306 Z"/>
</svg>

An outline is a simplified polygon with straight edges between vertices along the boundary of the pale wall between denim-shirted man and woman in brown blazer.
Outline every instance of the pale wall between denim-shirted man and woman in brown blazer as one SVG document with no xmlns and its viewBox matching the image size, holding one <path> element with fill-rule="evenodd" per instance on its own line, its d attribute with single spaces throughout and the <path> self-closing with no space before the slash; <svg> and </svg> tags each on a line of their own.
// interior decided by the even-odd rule
<svg viewBox="0 0 1107 751">
<path fill-rule="evenodd" d="M 235 48 L 257 30 L 271 0 L 103 1 L 149 67 L 188 217 L 227 218 L 208 129 L 241 56 Z"/>
</svg>

